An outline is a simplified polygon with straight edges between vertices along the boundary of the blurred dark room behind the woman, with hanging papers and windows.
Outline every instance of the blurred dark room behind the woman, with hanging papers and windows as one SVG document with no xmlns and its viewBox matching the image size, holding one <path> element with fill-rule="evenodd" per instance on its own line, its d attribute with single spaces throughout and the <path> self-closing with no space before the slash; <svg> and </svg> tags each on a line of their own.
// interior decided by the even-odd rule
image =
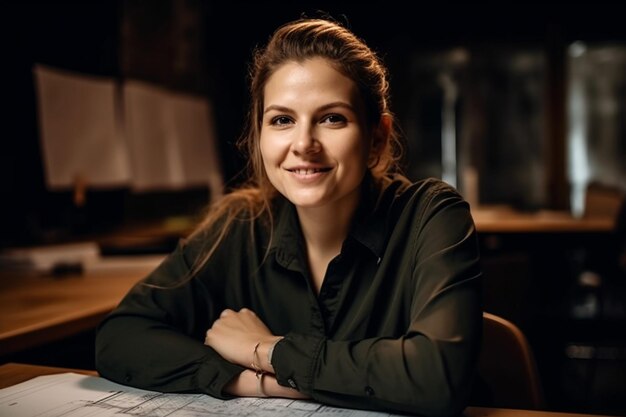
<svg viewBox="0 0 626 417">
<path fill-rule="evenodd" d="M 528 335 L 549 408 L 626 415 L 623 14 L 603 2 L 405 3 L 5 4 L 0 248 L 171 250 L 241 180 L 253 48 L 328 13 L 389 67 L 409 177 L 443 178 L 489 218 L 614 225 L 479 232 L 486 309 Z M 92 137 L 96 126 L 109 136 Z"/>
</svg>

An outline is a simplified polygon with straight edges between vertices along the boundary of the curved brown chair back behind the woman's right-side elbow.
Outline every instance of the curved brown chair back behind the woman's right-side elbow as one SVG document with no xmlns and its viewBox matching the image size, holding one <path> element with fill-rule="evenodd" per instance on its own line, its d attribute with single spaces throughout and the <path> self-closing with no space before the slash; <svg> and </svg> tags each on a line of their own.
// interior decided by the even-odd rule
<svg viewBox="0 0 626 417">
<path fill-rule="evenodd" d="M 477 383 L 482 384 L 482 398 L 472 405 L 526 410 L 543 408 L 539 372 L 528 340 L 515 324 L 487 312 L 483 313 L 478 380 Z"/>
</svg>

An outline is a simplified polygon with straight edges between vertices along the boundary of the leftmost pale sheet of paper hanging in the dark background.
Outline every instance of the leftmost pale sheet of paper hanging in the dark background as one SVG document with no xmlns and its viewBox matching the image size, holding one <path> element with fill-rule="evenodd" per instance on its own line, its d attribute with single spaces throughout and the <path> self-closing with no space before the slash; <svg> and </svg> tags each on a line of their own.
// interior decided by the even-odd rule
<svg viewBox="0 0 626 417">
<path fill-rule="evenodd" d="M 50 189 L 128 184 L 116 81 L 37 65 L 34 69 L 46 182 Z"/>
</svg>

